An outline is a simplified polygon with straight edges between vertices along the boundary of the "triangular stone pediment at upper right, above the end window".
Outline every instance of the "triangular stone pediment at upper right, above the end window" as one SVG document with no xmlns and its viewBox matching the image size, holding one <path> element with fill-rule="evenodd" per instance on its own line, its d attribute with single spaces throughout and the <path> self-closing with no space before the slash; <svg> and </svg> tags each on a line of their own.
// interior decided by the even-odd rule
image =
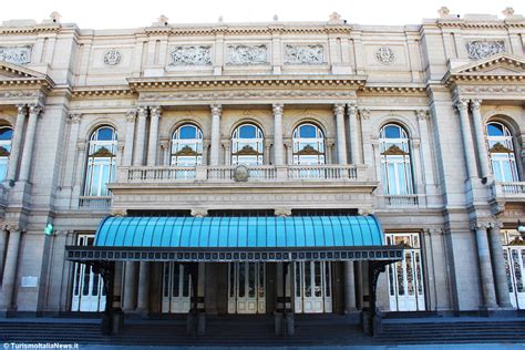
<svg viewBox="0 0 525 350">
<path fill-rule="evenodd" d="M 484 60 L 457 66 L 450 71 L 452 76 L 477 75 L 524 75 L 525 59 L 509 53 L 500 53 Z"/>
</svg>

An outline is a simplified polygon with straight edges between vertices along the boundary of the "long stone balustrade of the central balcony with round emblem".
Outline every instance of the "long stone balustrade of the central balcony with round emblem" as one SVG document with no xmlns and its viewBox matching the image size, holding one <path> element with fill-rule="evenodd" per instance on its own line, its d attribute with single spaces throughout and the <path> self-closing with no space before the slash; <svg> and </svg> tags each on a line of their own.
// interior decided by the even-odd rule
<svg viewBox="0 0 525 350">
<path fill-rule="evenodd" d="M 119 184 L 366 182 L 364 165 L 121 166 Z"/>
</svg>

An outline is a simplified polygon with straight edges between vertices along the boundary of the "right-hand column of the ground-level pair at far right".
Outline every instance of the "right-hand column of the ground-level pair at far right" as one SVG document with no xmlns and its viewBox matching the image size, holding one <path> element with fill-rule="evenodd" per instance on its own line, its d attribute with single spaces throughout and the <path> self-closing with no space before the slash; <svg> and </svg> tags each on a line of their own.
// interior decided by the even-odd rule
<svg viewBox="0 0 525 350">
<path fill-rule="evenodd" d="M 503 258 L 502 236 L 500 223 L 494 223 L 488 229 L 491 240 L 492 267 L 494 268 L 494 280 L 496 284 L 497 303 L 502 308 L 512 308 L 511 296 L 508 295 L 508 281 Z"/>
</svg>

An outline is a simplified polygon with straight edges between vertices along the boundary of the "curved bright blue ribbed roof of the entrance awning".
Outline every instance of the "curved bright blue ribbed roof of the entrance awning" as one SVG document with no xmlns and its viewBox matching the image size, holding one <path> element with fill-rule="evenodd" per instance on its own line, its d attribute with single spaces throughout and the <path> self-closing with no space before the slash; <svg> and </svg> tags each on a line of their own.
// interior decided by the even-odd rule
<svg viewBox="0 0 525 350">
<path fill-rule="evenodd" d="M 382 246 L 374 216 L 107 217 L 96 247 L 297 248 Z"/>
</svg>

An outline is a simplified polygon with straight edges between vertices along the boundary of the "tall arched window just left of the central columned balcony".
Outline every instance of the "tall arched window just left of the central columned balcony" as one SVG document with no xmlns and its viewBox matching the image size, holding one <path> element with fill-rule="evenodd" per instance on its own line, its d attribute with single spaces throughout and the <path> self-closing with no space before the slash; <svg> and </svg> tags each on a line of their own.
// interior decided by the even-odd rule
<svg viewBox="0 0 525 350">
<path fill-rule="evenodd" d="M 84 196 L 109 196 L 106 185 L 114 179 L 116 171 L 116 141 L 111 126 L 99 127 L 91 134 Z"/>
</svg>

